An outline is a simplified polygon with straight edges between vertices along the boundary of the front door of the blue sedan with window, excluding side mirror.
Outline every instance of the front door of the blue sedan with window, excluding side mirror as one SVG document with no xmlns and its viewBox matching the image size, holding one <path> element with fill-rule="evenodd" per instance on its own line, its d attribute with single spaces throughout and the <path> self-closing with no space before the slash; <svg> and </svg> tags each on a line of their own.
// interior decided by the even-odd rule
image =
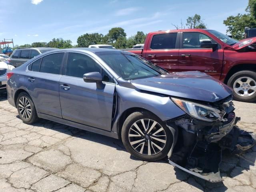
<svg viewBox="0 0 256 192">
<path fill-rule="evenodd" d="M 98 89 L 96 83 L 84 82 L 83 75 L 88 72 L 102 73 L 103 89 Z M 64 119 L 111 130 L 115 83 L 94 58 L 69 52 L 59 86 Z"/>
</svg>

